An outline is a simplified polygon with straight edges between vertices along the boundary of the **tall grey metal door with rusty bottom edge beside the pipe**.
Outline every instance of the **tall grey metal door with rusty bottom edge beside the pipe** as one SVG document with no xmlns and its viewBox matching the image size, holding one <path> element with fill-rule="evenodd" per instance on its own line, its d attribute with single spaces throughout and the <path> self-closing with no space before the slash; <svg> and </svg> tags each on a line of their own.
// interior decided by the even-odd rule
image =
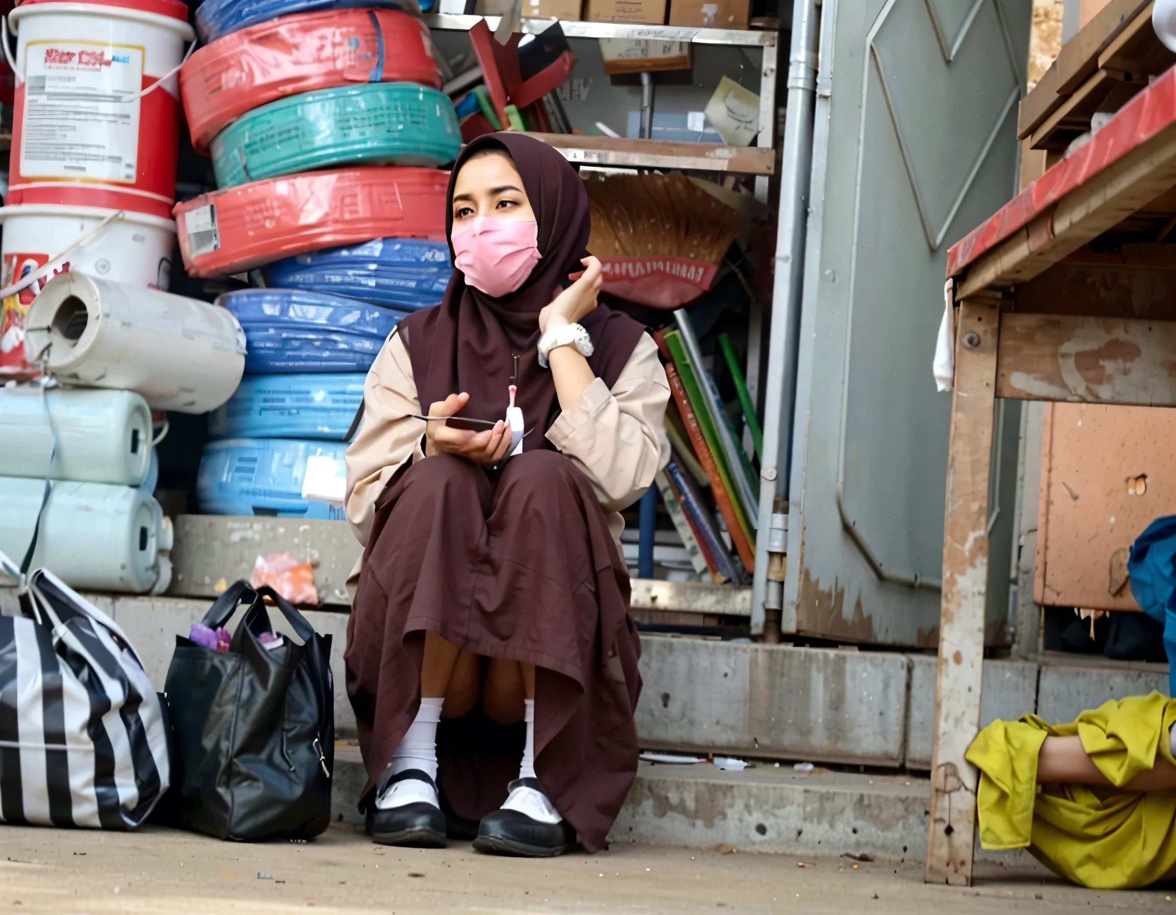
<svg viewBox="0 0 1176 915">
<path fill-rule="evenodd" d="M 1029 14 L 1028 0 L 821 7 L 783 450 L 786 632 L 938 643 L 950 395 L 936 393 L 930 366 L 944 256 L 1016 193 Z M 1007 641 L 1017 405 L 998 420 L 1005 469 L 990 500 L 989 643 Z"/>
</svg>

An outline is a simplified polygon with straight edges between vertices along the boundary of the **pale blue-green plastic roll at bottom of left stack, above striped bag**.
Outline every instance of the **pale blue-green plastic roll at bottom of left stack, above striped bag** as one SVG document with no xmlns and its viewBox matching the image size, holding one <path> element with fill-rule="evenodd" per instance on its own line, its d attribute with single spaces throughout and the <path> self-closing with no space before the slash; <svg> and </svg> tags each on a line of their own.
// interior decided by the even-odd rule
<svg viewBox="0 0 1176 915">
<path fill-rule="evenodd" d="M 0 476 L 0 550 L 20 562 L 33 539 L 45 481 Z M 72 588 L 161 594 L 172 563 L 172 523 L 151 495 L 129 486 L 53 483 L 31 568 Z"/>
</svg>

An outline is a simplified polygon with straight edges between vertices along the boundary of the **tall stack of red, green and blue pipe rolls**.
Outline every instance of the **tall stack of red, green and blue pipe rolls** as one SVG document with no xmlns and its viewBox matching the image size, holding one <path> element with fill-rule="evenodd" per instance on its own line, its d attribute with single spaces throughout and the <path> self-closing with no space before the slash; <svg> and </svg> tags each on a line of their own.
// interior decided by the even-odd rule
<svg viewBox="0 0 1176 915">
<path fill-rule="evenodd" d="M 196 496 L 209 514 L 342 519 L 367 372 L 452 273 L 439 167 L 461 133 L 412 16 L 256 22 L 242 11 L 206 0 L 196 26 L 209 44 L 180 74 L 193 145 L 212 155 L 220 188 L 175 207 L 185 267 L 254 287 L 218 300 L 245 329 L 246 376 L 209 418 Z M 308 467 L 328 468 L 334 497 Z"/>
</svg>

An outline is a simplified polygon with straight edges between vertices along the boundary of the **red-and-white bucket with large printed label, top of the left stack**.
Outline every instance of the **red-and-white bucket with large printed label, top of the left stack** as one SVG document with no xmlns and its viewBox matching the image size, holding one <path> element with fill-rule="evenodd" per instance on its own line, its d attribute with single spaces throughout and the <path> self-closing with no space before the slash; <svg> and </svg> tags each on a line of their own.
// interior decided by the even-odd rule
<svg viewBox="0 0 1176 915">
<path fill-rule="evenodd" d="M 16 32 L 12 202 L 168 215 L 178 78 L 140 93 L 183 59 L 193 38 L 187 11 L 160 0 L 38 2 L 16 7 L 9 22 Z"/>
</svg>

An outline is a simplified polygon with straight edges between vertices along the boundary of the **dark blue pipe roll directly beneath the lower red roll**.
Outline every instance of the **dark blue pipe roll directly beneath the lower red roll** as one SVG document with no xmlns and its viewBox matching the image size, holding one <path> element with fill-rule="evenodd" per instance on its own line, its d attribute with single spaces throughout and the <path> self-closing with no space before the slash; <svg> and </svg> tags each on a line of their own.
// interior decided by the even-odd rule
<svg viewBox="0 0 1176 915">
<path fill-rule="evenodd" d="M 373 239 L 298 254 L 266 271 L 270 286 L 334 293 L 405 312 L 440 302 L 453 273 L 449 246 L 419 239 Z"/>
</svg>

